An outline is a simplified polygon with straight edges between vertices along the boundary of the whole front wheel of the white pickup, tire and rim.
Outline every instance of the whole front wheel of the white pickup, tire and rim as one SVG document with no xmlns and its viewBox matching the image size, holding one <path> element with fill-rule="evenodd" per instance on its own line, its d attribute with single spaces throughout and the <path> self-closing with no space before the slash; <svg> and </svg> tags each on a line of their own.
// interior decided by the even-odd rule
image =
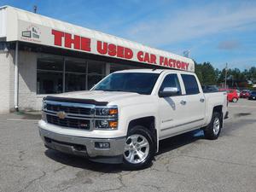
<svg viewBox="0 0 256 192">
<path fill-rule="evenodd" d="M 141 125 L 134 126 L 128 131 L 124 152 L 126 168 L 137 170 L 152 163 L 155 154 L 153 138 L 152 131 Z"/>
</svg>

